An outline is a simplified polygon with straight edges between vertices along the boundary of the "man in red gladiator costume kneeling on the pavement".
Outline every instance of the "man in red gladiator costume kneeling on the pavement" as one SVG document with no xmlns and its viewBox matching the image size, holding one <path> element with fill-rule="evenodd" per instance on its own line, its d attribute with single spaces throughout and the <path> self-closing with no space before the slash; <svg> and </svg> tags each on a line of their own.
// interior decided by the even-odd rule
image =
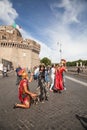
<svg viewBox="0 0 87 130">
<path fill-rule="evenodd" d="M 21 71 L 22 80 L 19 84 L 19 100 L 21 104 L 15 104 L 13 108 L 30 108 L 31 100 L 37 97 L 37 94 L 30 92 L 28 88 L 28 82 L 32 82 L 33 74 L 31 74 L 30 79 L 25 71 Z"/>
</svg>

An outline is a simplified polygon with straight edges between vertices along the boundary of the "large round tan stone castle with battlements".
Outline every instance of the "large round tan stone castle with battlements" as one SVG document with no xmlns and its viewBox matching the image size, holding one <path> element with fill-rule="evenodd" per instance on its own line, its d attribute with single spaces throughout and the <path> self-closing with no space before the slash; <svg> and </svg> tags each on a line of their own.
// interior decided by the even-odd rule
<svg viewBox="0 0 87 130">
<path fill-rule="evenodd" d="M 31 39 L 23 39 L 20 31 L 13 26 L 0 26 L 0 62 L 8 61 L 31 69 L 39 65 L 40 45 Z"/>
</svg>

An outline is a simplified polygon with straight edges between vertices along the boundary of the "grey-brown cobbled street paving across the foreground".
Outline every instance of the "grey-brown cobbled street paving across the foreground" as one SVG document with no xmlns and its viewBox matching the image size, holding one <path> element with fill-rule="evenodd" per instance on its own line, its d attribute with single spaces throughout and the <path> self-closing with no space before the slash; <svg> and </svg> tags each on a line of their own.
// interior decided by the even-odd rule
<svg viewBox="0 0 87 130">
<path fill-rule="evenodd" d="M 87 83 L 86 78 L 72 76 Z M 19 102 L 16 76 L 0 76 L 0 130 L 84 130 L 75 114 L 87 114 L 87 86 L 66 78 L 66 91 L 49 92 L 49 100 L 30 109 L 13 109 Z M 37 82 L 30 84 L 35 91 Z"/>
</svg>

